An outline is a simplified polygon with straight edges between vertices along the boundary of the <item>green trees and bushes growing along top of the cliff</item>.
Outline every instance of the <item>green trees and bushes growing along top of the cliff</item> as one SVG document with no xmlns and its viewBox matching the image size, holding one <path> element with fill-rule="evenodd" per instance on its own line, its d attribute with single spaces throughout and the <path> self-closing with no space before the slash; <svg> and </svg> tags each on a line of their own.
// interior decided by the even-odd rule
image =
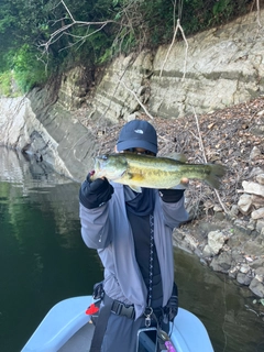
<svg viewBox="0 0 264 352">
<path fill-rule="evenodd" d="M 8 87 L 11 77 L 25 92 L 78 63 L 92 67 L 119 53 L 170 43 L 178 19 L 187 36 L 248 13 L 254 3 L 254 0 L 1 0 L 0 94 L 11 95 Z"/>
</svg>

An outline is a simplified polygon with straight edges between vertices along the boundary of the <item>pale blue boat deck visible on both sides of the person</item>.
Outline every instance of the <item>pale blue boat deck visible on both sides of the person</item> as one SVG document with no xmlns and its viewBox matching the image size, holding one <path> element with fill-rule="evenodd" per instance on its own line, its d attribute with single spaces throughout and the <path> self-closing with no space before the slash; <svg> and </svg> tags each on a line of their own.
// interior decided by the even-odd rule
<svg viewBox="0 0 264 352">
<path fill-rule="evenodd" d="M 85 311 L 91 302 L 91 296 L 81 296 L 55 305 L 21 352 L 89 351 L 95 328 Z M 183 308 L 172 324 L 170 339 L 177 352 L 213 352 L 202 322 Z"/>
</svg>

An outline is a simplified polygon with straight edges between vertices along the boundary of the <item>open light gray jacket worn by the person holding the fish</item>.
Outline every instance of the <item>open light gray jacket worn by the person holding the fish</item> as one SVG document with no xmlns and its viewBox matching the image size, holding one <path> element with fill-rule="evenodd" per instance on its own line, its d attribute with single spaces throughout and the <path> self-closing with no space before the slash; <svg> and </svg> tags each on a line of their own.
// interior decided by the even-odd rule
<svg viewBox="0 0 264 352">
<path fill-rule="evenodd" d="M 133 304 L 138 318 L 145 310 L 147 289 L 135 260 L 124 186 L 116 183 L 112 186 L 112 198 L 103 206 L 87 209 L 80 205 L 81 237 L 88 248 L 98 250 L 105 266 L 106 294 L 124 304 Z M 188 213 L 184 207 L 184 197 L 176 204 L 168 204 L 161 199 L 158 190 L 154 191 L 154 241 L 163 283 L 163 306 L 166 306 L 174 283 L 172 232 L 188 219 Z"/>
</svg>

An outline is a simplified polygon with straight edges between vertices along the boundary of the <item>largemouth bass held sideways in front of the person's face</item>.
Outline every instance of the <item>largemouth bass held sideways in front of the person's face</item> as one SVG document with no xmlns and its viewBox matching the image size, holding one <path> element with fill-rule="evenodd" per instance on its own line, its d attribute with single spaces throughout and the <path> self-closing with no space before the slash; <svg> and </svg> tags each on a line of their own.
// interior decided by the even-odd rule
<svg viewBox="0 0 264 352">
<path fill-rule="evenodd" d="M 105 154 L 95 158 L 92 179 L 107 177 L 135 191 L 146 188 L 174 188 L 183 178 L 205 180 L 219 188 L 226 167 L 220 164 L 186 164 L 170 157 L 134 153 Z"/>
</svg>

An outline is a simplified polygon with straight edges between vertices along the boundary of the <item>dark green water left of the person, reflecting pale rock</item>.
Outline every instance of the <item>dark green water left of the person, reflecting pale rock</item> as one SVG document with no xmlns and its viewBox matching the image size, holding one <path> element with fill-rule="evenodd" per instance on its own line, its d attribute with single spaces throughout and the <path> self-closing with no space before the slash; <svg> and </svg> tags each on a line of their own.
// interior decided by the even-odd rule
<svg viewBox="0 0 264 352">
<path fill-rule="evenodd" d="M 96 251 L 80 239 L 79 185 L 36 164 L 0 148 L 0 351 L 4 352 L 20 351 L 54 304 L 91 294 L 102 276 Z"/>
</svg>

